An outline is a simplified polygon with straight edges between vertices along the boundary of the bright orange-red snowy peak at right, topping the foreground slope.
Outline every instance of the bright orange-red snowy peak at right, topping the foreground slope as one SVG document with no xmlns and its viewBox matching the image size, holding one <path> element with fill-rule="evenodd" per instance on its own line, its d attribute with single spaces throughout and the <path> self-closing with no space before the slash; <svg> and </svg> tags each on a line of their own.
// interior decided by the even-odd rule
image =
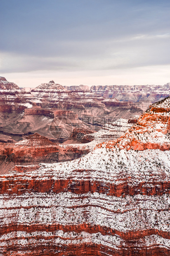
<svg viewBox="0 0 170 256">
<path fill-rule="evenodd" d="M 127 150 L 169 150 L 170 109 L 168 106 L 169 98 L 159 102 L 159 104 L 151 105 L 125 135 L 106 147 L 116 145 L 120 149 Z"/>
</svg>

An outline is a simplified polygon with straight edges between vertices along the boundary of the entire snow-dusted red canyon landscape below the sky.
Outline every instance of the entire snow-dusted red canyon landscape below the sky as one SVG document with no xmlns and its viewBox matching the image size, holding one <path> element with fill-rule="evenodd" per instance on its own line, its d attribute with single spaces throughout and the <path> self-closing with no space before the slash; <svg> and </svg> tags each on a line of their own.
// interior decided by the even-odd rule
<svg viewBox="0 0 170 256">
<path fill-rule="evenodd" d="M 169 95 L 0 77 L 0 256 L 170 255 Z"/>
</svg>

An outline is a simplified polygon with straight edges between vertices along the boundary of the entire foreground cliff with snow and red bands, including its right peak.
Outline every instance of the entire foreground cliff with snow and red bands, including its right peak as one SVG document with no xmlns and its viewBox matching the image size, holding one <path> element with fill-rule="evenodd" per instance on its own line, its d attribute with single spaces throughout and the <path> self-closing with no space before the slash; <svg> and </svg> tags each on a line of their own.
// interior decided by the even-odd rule
<svg viewBox="0 0 170 256">
<path fill-rule="evenodd" d="M 170 255 L 169 106 L 80 159 L 1 176 L 0 254 Z"/>
</svg>

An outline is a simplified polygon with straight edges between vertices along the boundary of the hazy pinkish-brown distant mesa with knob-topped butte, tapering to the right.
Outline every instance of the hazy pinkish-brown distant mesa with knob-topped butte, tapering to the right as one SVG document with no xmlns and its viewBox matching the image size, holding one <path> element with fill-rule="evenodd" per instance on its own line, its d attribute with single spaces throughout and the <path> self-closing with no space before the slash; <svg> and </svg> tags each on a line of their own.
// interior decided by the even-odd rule
<svg viewBox="0 0 170 256">
<path fill-rule="evenodd" d="M 68 140 L 73 129 L 98 131 L 110 121 L 142 114 L 132 102 L 105 99 L 80 85 L 65 90 L 54 81 L 30 90 L 19 90 L 14 83 L 1 78 L 0 134 L 20 141 L 38 133 L 53 142 Z M 6 88 L 6 89 L 2 89 Z"/>
</svg>

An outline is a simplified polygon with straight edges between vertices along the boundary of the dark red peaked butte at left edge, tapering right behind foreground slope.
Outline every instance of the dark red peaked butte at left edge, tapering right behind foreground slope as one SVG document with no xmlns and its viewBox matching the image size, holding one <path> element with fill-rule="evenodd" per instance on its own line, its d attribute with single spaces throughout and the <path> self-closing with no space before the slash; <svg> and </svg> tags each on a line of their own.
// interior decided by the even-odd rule
<svg viewBox="0 0 170 256">
<path fill-rule="evenodd" d="M 40 163 L 70 161 L 89 152 L 88 147 L 59 145 L 34 133 L 20 142 L 1 143 L 0 174 L 33 171 Z"/>
</svg>

